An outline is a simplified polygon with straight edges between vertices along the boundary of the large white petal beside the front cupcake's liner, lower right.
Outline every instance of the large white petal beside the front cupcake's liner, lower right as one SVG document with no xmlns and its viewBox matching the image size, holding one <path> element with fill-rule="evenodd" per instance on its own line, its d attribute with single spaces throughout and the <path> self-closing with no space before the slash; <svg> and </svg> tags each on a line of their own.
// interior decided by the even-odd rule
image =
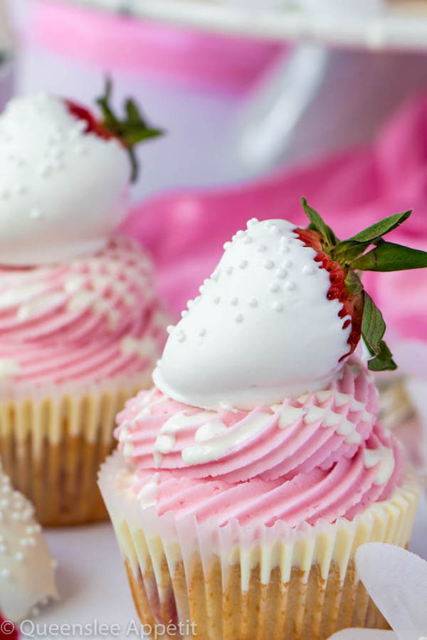
<svg viewBox="0 0 427 640">
<path fill-rule="evenodd" d="M 356 566 L 399 640 L 427 636 L 426 560 L 394 545 L 369 543 L 357 550 Z"/>
</svg>

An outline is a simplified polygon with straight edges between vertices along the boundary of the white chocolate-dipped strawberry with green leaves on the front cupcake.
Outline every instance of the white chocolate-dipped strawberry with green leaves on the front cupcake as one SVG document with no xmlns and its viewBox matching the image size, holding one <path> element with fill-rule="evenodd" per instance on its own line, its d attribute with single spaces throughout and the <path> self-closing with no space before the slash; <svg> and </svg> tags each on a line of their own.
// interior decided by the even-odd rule
<svg viewBox="0 0 427 640">
<path fill-rule="evenodd" d="M 254 218 L 226 242 L 200 296 L 169 328 L 153 375 L 165 395 L 213 410 L 271 405 L 324 388 L 361 334 L 370 368 L 395 368 L 384 321 L 357 272 L 427 266 L 426 253 L 381 238 L 410 212 L 339 242 L 303 206 L 308 229 Z"/>
</svg>

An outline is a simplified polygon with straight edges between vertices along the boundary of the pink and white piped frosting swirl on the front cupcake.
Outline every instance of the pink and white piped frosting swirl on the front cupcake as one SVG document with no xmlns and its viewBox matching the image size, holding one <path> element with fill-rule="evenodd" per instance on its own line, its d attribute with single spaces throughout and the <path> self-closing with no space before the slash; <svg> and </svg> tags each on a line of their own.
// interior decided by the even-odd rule
<svg viewBox="0 0 427 640">
<path fill-rule="evenodd" d="M 118 416 L 132 487 L 159 515 L 288 526 L 353 518 L 403 479 L 377 422 L 374 380 L 352 358 L 326 390 L 251 411 L 205 411 L 142 392 Z"/>
</svg>

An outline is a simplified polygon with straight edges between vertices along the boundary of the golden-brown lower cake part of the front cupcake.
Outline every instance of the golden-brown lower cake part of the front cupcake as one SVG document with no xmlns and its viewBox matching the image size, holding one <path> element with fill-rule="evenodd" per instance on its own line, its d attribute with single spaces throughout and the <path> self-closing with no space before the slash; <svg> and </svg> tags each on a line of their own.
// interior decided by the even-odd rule
<svg viewBox="0 0 427 640">
<path fill-rule="evenodd" d="M 184 565 L 176 567 L 171 579 L 167 566 L 160 576 L 162 590 L 169 585 L 169 598 L 159 599 L 153 571 L 134 575 L 125 560 L 127 577 L 137 614 L 142 624 L 159 631 L 159 625 L 178 625 L 176 594 L 187 597 Z M 232 567 L 226 587 L 221 586 L 221 562 L 216 560 L 205 580 L 201 567 L 194 571 L 188 590 L 189 612 L 193 626 L 182 624 L 190 635 L 167 633 L 157 638 L 203 638 L 204 640 L 326 640 L 334 631 L 349 626 L 389 629 L 361 582 L 355 576 L 354 560 L 349 562 L 344 583 L 337 565 L 332 564 L 327 580 L 319 565 L 313 565 L 308 579 L 292 567 L 290 580 L 283 582 L 280 569 L 271 572 L 270 582 L 260 580 L 260 565 L 251 572 L 247 592 L 241 591 L 240 567 Z M 166 589 L 168 590 L 168 589 Z M 157 624 L 157 627 L 156 627 Z M 192 629 L 194 634 L 191 633 Z"/>
</svg>

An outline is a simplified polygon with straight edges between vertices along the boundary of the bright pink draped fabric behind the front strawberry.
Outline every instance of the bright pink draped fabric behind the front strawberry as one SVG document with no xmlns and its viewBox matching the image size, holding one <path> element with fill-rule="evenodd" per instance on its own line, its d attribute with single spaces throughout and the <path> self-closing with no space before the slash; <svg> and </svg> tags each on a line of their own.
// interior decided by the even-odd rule
<svg viewBox="0 0 427 640">
<path fill-rule="evenodd" d="M 223 242 L 248 218 L 288 218 L 306 225 L 301 196 L 341 238 L 413 208 L 404 227 L 389 238 L 427 250 L 427 96 L 408 102 L 368 148 L 227 190 L 154 198 L 132 210 L 124 230 L 152 251 L 160 289 L 177 315 L 213 270 Z M 365 283 L 394 341 L 427 343 L 427 270 L 368 273 Z"/>
</svg>

